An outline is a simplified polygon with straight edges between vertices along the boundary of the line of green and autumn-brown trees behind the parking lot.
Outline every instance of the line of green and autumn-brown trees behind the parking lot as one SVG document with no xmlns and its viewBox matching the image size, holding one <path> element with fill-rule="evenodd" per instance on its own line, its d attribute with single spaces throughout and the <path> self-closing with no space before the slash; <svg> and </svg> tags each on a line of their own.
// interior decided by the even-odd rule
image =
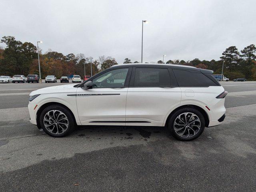
<svg viewBox="0 0 256 192">
<path fill-rule="evenodd" d="M 0 48 L 0 75 L 13 76 L 15 74 L 39 74 L 37 48 L 30 42 L 18 41 L 13 36 L 4 36 L 1 43 L 6 44 L 5 49 Z M 97 59 L 86 57 L 80 53 L 74 55 L 70 53 L 63 55 L 62 53 L 48 50 L 40 54 L 41 77 L 47 75 L 56 75 L 58 78 L 63 75 L 78 74 L 84 76 L 90 75 L 90 64 L 92 63 L 92 74 L 96 74 L 101 70 L 116 65 L 116 59 L 111 56 L 99 56 Z M 191 61 L 185 60 L 167 60 L 166 64 L 179 64 L 195 66 L 197 68 L 210 69 L 214 74 L 221 74 L 222 63 L 224 61 L 223 74 L 230 80 L 234 78 L 247 78 L 256 80 L 256 47 L 251 44 L 243 50 L 238 51 L 236 46 L 230 46 L 222 53 L 220 60 L 199 60 L 195 58 Z M 129 58 L 125 58 L 123 63 L 139 63 L 132 62 Z M 163 63 L 162 60 L 150 63 Z"/>
</svg>

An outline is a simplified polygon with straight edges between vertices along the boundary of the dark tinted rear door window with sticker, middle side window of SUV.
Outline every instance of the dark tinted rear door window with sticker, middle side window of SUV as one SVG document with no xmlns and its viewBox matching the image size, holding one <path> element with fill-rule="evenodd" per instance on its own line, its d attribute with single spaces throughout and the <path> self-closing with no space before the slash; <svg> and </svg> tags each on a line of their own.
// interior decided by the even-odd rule
<svg viewBox="0 0 256 192">
<path fill-rule="evenodd" d="M 136 68 L 134 86 L 170 86 L 168 69 Z"/>
</svg>

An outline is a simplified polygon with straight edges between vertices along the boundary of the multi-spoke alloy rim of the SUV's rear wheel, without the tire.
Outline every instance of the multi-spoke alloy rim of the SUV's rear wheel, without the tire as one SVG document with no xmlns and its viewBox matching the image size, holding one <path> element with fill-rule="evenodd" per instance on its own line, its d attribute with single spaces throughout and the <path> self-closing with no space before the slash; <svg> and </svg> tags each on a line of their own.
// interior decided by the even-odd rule
<svg viewBox="0 0 256 192">
<path fill-rule="evenodd" d="M 178 115 L 174 120 L 174 131 L 178 136 L 190 138 L 195 136 L 201 128 L 198 116 L 191 112 Z"/>
</svg>

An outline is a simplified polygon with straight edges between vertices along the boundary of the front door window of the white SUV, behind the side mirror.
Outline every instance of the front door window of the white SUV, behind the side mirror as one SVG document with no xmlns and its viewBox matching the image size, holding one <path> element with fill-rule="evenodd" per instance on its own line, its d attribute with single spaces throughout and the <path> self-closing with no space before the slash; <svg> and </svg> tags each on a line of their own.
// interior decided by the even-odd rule
<svg viewBox="0 0 256 192">
<path fill-rule="evenodd" d="M 124 87 L 124 82 L 128 73 L 128 68 L 114 69 L 108 71 L 92 80 L 94 88 L 120 88 Z"/>
</svg>

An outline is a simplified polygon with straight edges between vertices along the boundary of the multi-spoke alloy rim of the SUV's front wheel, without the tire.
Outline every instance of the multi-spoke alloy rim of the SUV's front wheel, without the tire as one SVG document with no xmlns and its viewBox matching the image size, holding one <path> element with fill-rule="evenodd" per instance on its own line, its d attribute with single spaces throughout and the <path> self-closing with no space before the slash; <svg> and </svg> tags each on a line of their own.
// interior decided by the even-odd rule
<svg viewBox="0 0 256 192">
<path fill-rule="evenodd" d="M 60 110 L 50 110 L 44 115 L 44 126 L 52 134 L 62 134 L 68 129 L 68 118 Z"/>
</svg>

